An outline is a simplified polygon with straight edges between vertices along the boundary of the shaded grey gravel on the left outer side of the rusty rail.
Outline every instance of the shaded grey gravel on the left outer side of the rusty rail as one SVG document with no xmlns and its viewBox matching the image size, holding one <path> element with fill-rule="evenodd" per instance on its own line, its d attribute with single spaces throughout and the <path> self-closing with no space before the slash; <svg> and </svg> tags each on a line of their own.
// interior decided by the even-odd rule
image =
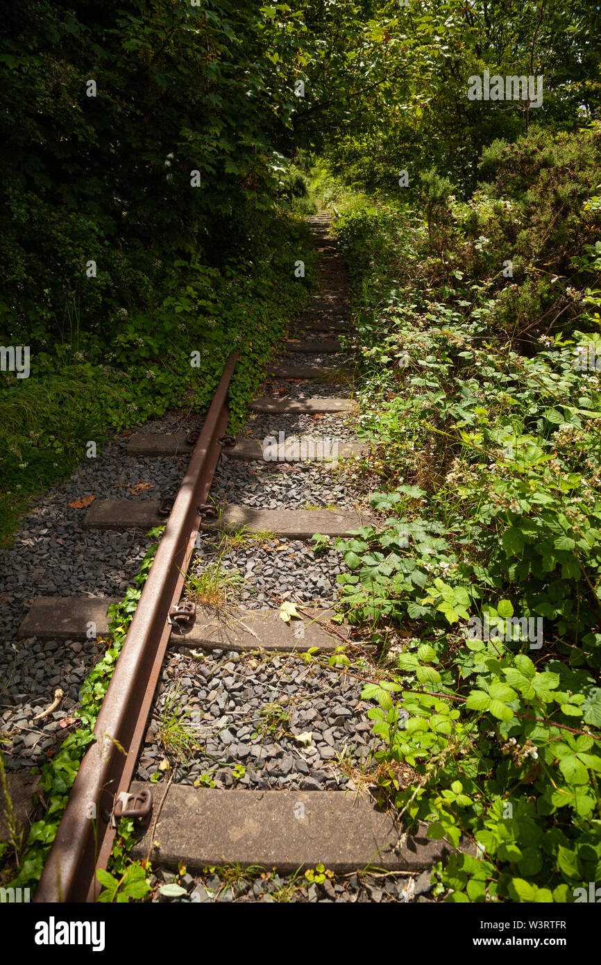
<svg viewBox="0 0 601 965">
<path fill-rule="evenodd" d="M 181 425 L 181 413 L 150 424 L 157 430 Z M 35 638 L 17 641 L 18 626 L 34 596 L 117 596 L 133 586 L 151 538 L 145 532 L 94 532 L 81 528 L 86 508 L 69 507 L 90 495 L 97 499 L 145 499 L 174 495 L 186 457 L 143 459 L 125 456 L 127 436 L 110 441 L 80 463 L 68 480 L 51 486 L 23 517 L 10 548 L 0 553 L 0 734 L 7 767 L 40 767 L 54 756 L 77 726 L 79 688 L 104 646 Z M 151 483 L 140 489 L 137 483 Z M 58 711 L 33 721 L 60 687 Z M 68 720 L 65 728 L 55 722 Z"/>
</svg>

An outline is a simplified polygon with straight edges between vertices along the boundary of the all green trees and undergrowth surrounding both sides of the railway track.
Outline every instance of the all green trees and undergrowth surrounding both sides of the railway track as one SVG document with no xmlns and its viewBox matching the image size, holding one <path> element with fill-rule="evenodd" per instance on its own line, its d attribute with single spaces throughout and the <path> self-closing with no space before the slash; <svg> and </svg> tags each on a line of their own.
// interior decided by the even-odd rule
<svg viewBox="0 0 601 965">
<path fill-rule="evenodd" d="M 316 161 L 382 489 L 381 525 L 339 543 L 342 611 L 388 660 L 364 694 L 382 791 L 433 837 L 477 842 L 480 860 L 438 869 L 447 899 L 574 900 L 601 856 L 597 6 L 14 0 L 0 15 L 0 345 L 31 351 L 28 377 L 2 359 L 4 532 L 90 440 L 202 411 L 235 348 L 239 425 L 305 296 L 297 260 L 311 279 Z M 484 74 L 540 78 L 540 102 L 470 99 Z M 19 882 L 39 875 L 121 639 L 44 770 Z M 107 900 L 146 888 L 138 871 L 104 884 Z"/>
</svg>

